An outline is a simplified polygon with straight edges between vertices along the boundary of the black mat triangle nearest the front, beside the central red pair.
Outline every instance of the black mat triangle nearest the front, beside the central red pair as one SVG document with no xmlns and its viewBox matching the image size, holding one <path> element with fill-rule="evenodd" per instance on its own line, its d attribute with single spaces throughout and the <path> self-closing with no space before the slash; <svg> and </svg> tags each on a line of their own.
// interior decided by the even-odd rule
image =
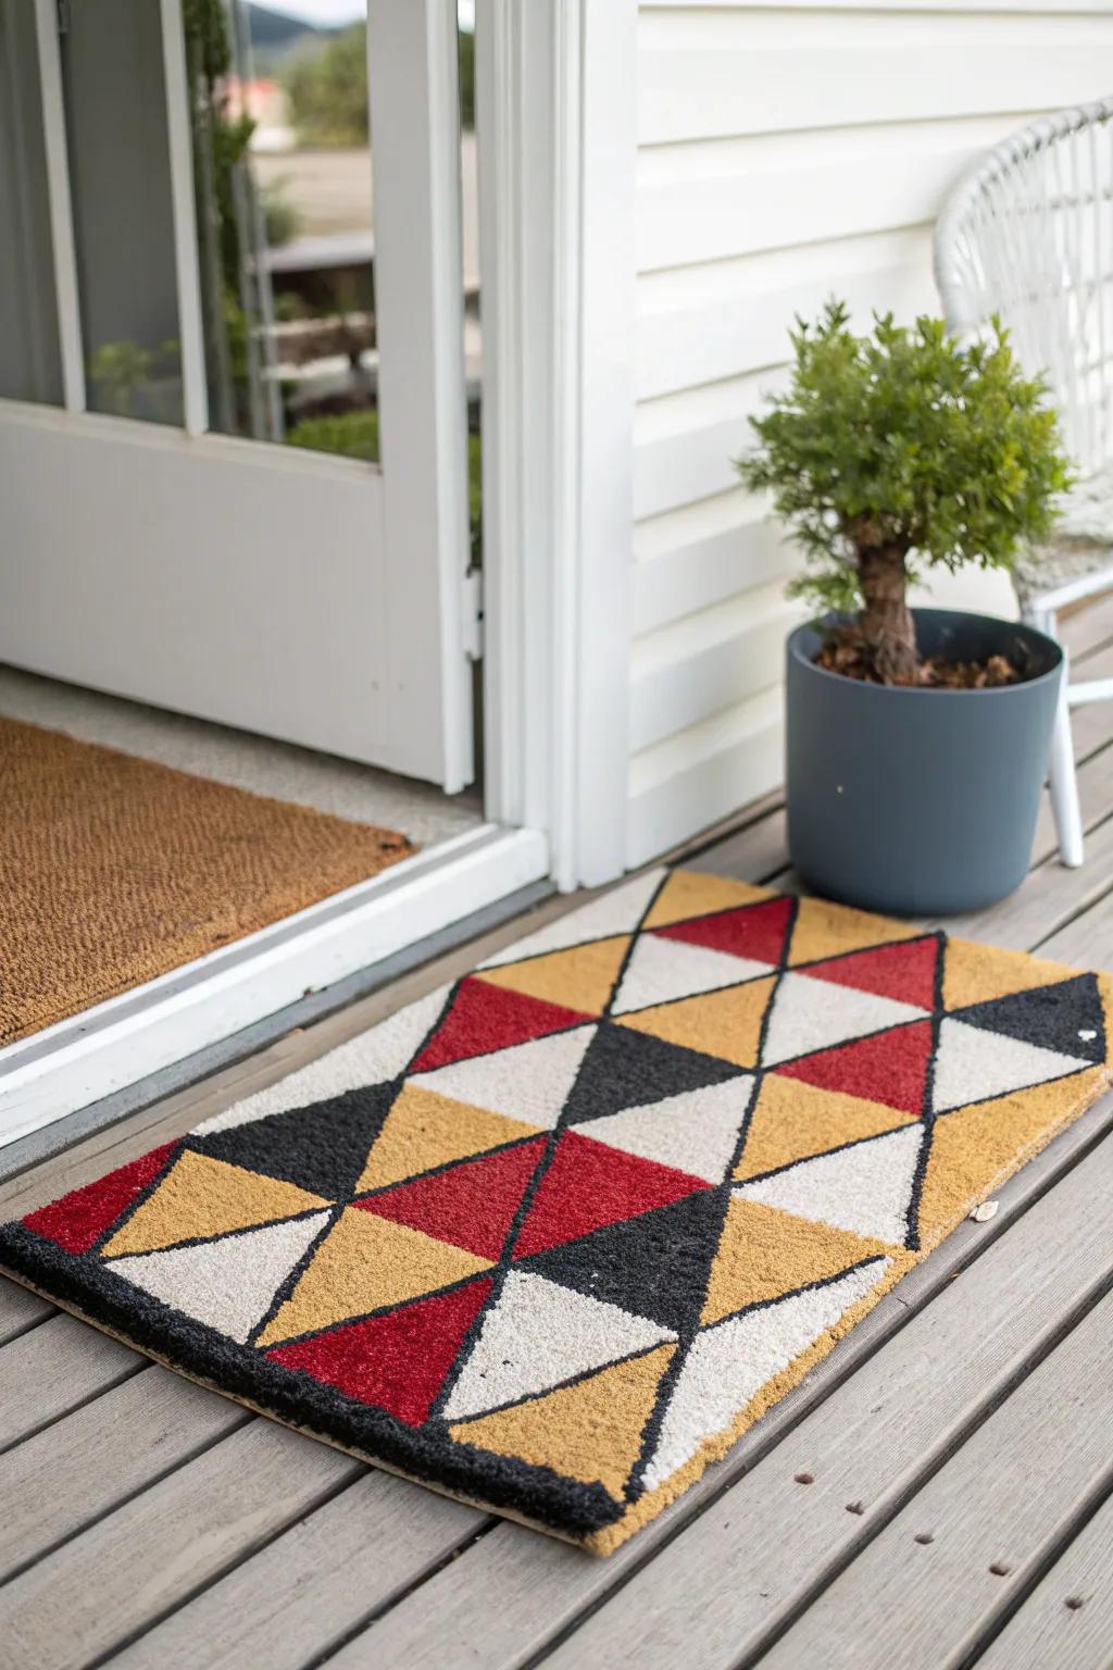
<svg viewBox="0 0 1113 1670">
<path fill-rule="evenodd" d="M 726 1204 L 719 1189 L 701 1189 L 537 1252 L 521 1268 L 682 1333 L 699 1323 Z"/>
</svg>

